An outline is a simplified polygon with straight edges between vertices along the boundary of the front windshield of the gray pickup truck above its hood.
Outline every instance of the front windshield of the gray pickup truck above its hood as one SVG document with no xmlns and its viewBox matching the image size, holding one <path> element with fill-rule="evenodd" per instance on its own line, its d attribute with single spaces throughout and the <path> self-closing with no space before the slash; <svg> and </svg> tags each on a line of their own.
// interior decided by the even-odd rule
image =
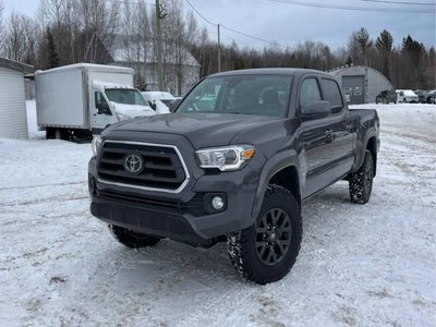
<svg viewBox="0 0 436 327">
<path fill-rule="evenodd" d="M 239 113 L 283 117 L 288 113 L 292 76 L 209 77 L 199 83 L 177 112 Z"/>
</svg>

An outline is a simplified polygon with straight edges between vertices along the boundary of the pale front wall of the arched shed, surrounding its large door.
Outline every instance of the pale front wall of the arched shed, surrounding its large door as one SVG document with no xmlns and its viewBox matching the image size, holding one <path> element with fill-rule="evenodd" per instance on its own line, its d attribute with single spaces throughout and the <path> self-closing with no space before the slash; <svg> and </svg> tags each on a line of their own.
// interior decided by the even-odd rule
<svg viewBox="0 0 436 327">
<path fill-rule="evenodd" d="M 392 84 L 380 72 L 370 66 L 354 65 L 331 71 L 342 86 L 342 76 L 364 76 L 364 102 L 375 102 L 375 97 L 385 89 L 393 89 Z"/>
</svg>

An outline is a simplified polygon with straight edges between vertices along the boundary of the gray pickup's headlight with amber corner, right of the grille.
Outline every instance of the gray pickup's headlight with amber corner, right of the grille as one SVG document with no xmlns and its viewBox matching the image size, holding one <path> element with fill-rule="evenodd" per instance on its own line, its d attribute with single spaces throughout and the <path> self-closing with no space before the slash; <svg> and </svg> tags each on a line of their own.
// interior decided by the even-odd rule
<svg viewBox="0 0 436 327">
<path fill-rule="evenodd" d="M 221 171 L 240 169 L 254 154 L 254 146 L 251 145 L 231 145 L 195 152 L 201 168 L 218 168 Z"/>
</svg>

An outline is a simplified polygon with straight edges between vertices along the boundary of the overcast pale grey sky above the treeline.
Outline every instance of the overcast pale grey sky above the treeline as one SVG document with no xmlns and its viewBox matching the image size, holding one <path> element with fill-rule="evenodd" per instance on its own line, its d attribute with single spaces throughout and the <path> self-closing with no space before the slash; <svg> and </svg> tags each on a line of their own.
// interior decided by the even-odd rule
<svg viewBox="0 0 436 327">
<path fill-rule="evenodd" d="M 134 2 L 134 0 L 129 1 Z M 186 0 L 182 1 L 186 10 L 191 9 Z M 4 0 L 4 16 L 8 16 L 13 10 L 34 16 L 39 0 Z M 148 0 L 148 2 L 155 3 L 155 0 Z M 350 34 L 360 27 L 365 27 L 374 39 L 383 29 L 388 29 L 393 35 L 397 46 L 409 34 L 427 47 L 436 45 L 436 7 L 426 5 L 435 3 L 435 0 L 278 0 L 277 2 L 270 0 L 189 0 L 189 2 L 213 23 L 219 23 L 283 46 L 293 47 L 299 41 L 312 39 L 323 41 L 336 49 L 344 46 Z M 364 8 L 377 11 L 315 8 L 290 2 Z M 405 5 L 386 2 L 426 4 Z M 398 9 L 407 12 L 387 11 Z M 413 11 L 426 13 L 414 13 Z M 216 39 L 216 27 L 206 23 L 198 14 L 195 13 L 195 15 L 198 23 L 208 28 L 210 38 Z M 221 29 L 221 39 L 225 44 L 230 44 L 234 39 L 240 47 L 258 48 L 266 45 L 225 28 Z"/>
</svg>

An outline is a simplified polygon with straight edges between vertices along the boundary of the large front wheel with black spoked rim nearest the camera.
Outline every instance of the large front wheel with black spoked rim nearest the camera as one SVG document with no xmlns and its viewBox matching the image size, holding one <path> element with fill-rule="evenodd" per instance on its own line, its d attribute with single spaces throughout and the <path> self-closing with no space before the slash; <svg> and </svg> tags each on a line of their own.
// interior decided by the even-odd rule
<svg viewBox="0 0 436 327">
<path fill-rule="evenodd" d="M 230 261 L 250 281 L 258 284 L 277 281 L 295 263 L 302 233 L 299 203 L 288 190 L 270 184 L 256 222 L 228 235 Z"/>
</svg>

